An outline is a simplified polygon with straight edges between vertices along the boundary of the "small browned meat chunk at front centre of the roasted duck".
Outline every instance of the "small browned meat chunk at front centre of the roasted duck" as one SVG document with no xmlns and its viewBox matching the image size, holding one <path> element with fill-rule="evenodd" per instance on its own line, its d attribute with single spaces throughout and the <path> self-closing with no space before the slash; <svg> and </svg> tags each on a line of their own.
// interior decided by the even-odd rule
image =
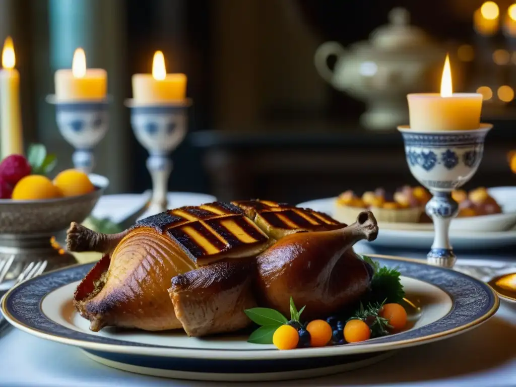
<svg viewBox="0 0 516 387">
<path fill-rule="evenodd" d="M 169 293 L 185 332 L 205 336 L 247 327 L 244 310 L 256 306 L 253 270 L 254 260 L 230 260 L 174 277 Z"/>
</svg>

